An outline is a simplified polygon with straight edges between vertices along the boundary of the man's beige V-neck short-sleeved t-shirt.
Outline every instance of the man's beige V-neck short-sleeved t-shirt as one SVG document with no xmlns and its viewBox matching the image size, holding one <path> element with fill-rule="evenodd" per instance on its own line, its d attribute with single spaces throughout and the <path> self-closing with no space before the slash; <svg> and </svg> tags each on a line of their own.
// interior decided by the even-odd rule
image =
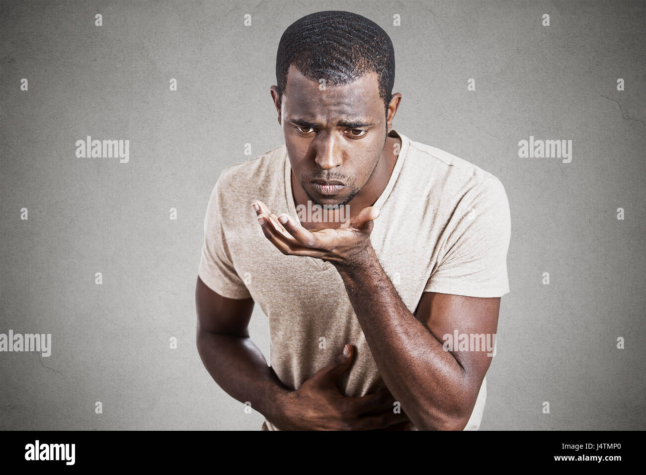
<svg viewBox="0 0 646 475">
<path fill-rule="evenodd" d="M 508 293 L 511 225 L 500 180 L 394 130 L 390 135 L 399 135 L 402 147 L 375 202 L 380 215 L 370 240 L 406 308 L 414 312 L 424 291 Z M 251 207 L 261 200 L 276 215 L 298 219 L 290 173 L 285 145 L 222 171 L 205 216 L 198 275 L 224 297 L 253 297 L 260 305 L 269 318 L 271 367 L 289 388 L 297 389 L 349 343 L 355 357 L 340 379 L 344 394 L 376 392 L 386 385 L 337 270 L 320 259 L 282 254 Z M 486 378 L 465 430 L 479 428 L 485 399 Z M 262 429 L 277 430 L 269 421 Z"/>
</svg>

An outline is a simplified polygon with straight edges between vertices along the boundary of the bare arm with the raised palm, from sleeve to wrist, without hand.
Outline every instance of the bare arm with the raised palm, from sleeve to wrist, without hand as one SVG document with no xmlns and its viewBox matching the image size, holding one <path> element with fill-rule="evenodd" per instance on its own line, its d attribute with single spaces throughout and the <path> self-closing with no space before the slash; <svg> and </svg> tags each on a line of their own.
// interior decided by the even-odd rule
<svg viewBox="0 0 646 475">
<path fill-rule="evenodd" d="M 413 315 L 371 247 L 352 266 L 335 267 L 382 379 L 415 427 L 462 430 L 491 357 L 444 351 L 442 337 L 454 330 L 494 334 L 500 298 L 425 292 Z"/>
</svg>

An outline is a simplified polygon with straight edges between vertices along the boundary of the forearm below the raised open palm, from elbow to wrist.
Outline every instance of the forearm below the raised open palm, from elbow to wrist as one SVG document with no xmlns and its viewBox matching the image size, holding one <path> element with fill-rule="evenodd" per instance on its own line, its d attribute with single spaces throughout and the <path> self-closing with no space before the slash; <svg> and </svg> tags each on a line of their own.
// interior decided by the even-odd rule
<svg viewBox="0 0 646 475">
<path fill-rule="evenodd" d="M 352 266 L 335 267 L 380 375 L 413 424 L 420 429 L 466 425 L 463 368 L 406 308 L 373 249 Z"/>
</svg>

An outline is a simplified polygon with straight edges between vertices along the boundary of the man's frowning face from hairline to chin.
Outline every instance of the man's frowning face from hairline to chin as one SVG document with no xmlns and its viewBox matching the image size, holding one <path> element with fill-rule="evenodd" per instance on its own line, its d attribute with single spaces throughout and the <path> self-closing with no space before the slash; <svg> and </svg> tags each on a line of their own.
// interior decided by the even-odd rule
<svg viewBox="0 0 646 475">
<path fill-rule="evenodd" d="M 386 112 L 374 72 L 320 90 L 317 81 L 290 67 L 279 119 L 294 176 L 320 206 L 348 204 L 368 182 L 386 143 Z"/>
</svg>

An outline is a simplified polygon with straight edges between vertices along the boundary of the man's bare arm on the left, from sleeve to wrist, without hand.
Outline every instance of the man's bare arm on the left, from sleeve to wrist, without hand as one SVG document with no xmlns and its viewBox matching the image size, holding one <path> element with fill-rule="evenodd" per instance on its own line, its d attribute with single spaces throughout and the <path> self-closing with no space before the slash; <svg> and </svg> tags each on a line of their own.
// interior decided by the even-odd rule
<svg viewBox="0 0 646 475">
<path fill-rule="evenodd" d="M 195 302 L 197 348 L 209 374 L 231 397 L 249 401 L 269 421 L 278 418 L 278 398 L 289 391 L 249 338 L 253 299 L 222 297 L 198 277 Z"/>
</svg>

